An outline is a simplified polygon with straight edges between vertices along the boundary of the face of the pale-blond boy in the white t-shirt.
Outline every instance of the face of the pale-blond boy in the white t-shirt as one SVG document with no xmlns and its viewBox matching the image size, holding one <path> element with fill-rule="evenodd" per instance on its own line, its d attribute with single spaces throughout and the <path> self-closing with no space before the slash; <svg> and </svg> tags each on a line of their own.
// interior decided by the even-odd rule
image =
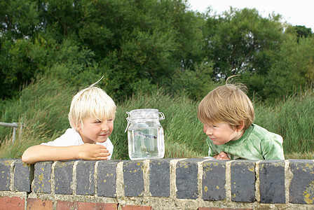
<svg viewBox="0 0 314 210">
<path fill-rule="evenodd" d="M 83 120 L 83 125 L 83 127 L 78 125 L 76 130 L 85 144 L 103 143 L 107 141 L 112 130 L 114 130 L 114 119 L 100 121 L 90 117 Z"/>
</svg>

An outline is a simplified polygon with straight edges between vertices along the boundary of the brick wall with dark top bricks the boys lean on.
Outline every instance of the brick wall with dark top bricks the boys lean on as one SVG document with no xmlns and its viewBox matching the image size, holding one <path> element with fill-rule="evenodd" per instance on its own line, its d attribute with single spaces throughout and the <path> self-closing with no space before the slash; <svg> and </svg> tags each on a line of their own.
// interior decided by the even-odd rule
<svg viewBox="0 0 314 210">
<path fill-rule="evenodd" d="M 0 160 L 0 209 L 314 209 L 314 161 Z"/>
</svg>

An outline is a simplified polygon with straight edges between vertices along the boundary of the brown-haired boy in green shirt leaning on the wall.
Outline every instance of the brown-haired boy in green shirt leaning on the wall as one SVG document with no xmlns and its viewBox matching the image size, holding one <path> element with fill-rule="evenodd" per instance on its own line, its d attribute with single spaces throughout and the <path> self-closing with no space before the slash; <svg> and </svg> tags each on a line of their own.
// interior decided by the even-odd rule
<svg viewBox="0 0 314 210">
<path fill-rule="evenodd" d="M 217 160 L 285 160 L 282 137 L 253 124 L 254 108 L 242 89 L 244 85 L 222 85 L 198 105 L 208 155 Z"/>
</svg>

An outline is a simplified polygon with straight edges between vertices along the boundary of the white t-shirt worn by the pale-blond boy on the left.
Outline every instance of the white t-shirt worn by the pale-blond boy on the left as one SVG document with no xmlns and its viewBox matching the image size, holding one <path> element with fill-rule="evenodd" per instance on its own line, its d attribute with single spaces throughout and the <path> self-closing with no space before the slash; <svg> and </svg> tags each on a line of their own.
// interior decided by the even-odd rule
<svg viewBox="0 0 314 210">
<path fill-rule="evenodd" d="M 41 143 L 41 145 L 47 146 L 76 146 L 81 144 L 84 144 L 83 139 L 73 127 L 67 129 L 61 137 L 47 143 Z M 110 153 L 108 160 L 110 160 L 112 152 L 114 151 L 114 145 L 111 143 L 110 139 L 108 138 L 104 143 L 96 142 L 96 144 L 103 145 L 107 148 Z"/>
</svg>

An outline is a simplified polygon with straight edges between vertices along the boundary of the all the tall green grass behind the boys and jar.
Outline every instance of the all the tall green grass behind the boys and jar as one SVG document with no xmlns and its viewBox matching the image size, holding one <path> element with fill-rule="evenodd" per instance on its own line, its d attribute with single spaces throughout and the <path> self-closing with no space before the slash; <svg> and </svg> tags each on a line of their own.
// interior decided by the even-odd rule
<svg viewBox="0 0 314 210">
<path fill-rule="evenodd" d="M 59 80 L 46 78 L 22 90 L 20 98 L 1 102 L 1 122 L 22 122 L 22 139 L 11 141 L 12 129 L 0 127 L 0 158 L 20 158 L 29 146 L 52 141 L 69 127 L 67 113 L 76 90 Z M 109 93 L 110 95 L 110 93 Z M 111 141 L 113 158 L 128 160 L 125 111 L 158 109 L 165 114 L 165 158 L 200 158 L 207 155 L 206 135 L 197 118 L 198 102 L 184 95 L 172 97 L 163 90 L 138 93 L 117 104 Z M 276 106 L 255 104 L 254 123 L 282 135 L 286 158 L 314 159 L 314 95 L 290 97 Z"/>
</svg>

